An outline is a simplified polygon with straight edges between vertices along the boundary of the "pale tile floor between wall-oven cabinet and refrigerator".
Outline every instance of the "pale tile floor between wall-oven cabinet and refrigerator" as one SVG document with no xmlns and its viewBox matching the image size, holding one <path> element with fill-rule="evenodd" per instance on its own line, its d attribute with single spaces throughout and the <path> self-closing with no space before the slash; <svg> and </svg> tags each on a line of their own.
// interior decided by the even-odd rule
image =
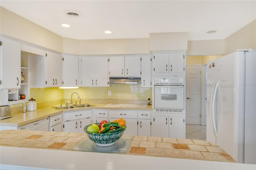
<svg viewBox="0 0 256 170">
<path fill-rule="evenodd" d="M 206 140 L 206 126 L 186 125 L 186 139 Z"/>
</svg>

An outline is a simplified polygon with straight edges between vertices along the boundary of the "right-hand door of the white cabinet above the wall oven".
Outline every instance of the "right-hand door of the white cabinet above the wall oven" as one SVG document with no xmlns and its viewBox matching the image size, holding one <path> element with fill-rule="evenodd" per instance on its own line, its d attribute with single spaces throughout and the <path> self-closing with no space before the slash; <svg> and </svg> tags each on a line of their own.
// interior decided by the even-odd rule
<svg viewBox="0 0 256 170">
<path fill-rule="evenodd" d="M 184 73 L 184 54 L 169 53 L 169 73 Z"/>
</svg>

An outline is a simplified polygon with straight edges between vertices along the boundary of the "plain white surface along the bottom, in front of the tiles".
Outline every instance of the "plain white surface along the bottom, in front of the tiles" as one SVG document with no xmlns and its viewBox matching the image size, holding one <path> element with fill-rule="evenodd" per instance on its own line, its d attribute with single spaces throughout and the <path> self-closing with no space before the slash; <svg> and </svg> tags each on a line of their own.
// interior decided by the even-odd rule
<svg viewBox="0 0 256 170">
<path fill-rule="evenodd" d="M 74 170 L 255 170 L 255 164 L 240 164 L 206 160 L 188 160 L 79 152 L 66 150 L 48 150 L 38 148 L 0 147 L 0 169 L 74 169 Z M 25 166 L 25 167 L 22 167 Z M 28 168 L 30 167 L 30 168 Z"/>
</svg>

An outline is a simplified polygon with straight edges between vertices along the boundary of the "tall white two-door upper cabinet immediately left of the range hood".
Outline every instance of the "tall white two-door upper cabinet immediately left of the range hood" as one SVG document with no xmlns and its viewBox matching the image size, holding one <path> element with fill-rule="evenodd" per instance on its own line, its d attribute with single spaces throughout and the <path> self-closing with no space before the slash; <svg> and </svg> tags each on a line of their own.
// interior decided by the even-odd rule
<svg viewBox="0 0 256 170">
<path fill-rule="evenodd" d="M 80 57 L 81 87 L 108 87 L 108 57 Z"/>
</svg>

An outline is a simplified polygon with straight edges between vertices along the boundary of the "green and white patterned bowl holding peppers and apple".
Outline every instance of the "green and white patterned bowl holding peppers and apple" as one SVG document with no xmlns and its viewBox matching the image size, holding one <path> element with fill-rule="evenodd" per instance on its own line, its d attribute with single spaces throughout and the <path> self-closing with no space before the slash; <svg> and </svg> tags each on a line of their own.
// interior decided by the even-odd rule
<svg viewBox="0 0 256 170">
<path fill-rule="evenodd" d="M 95 123 L 96 125 L 99 125 L 99 123 Z M 90 124 L 92 125 L 92 124 Z M 92 142 L 96 143 L 98 146 L 111 146 L 115 144 L 115 142 L 121 138 L 121 136 L 124 134 L 124 130 L 120 130 L 118 132 L 113 132 L 113 133 L 91 133 L 87 132 L 87 128 L 90 126 L 87 125 L 84 127 L 84 131 L 86 132 L 88 138 L 92 140 Z M 126 126 L 126 125 L 125 125 Z"/>
</svg>

